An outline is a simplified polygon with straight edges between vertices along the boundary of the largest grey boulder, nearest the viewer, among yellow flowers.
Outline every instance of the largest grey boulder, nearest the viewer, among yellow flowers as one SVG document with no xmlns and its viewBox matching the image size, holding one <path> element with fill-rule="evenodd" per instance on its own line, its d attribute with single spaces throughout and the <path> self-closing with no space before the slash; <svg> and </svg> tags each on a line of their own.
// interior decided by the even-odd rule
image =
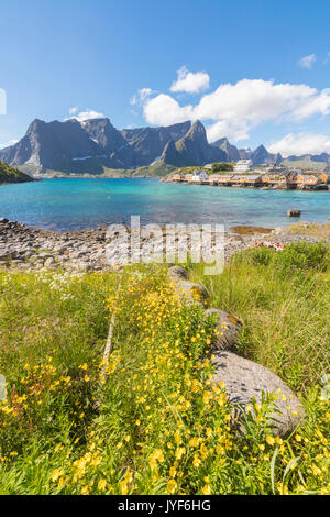
<svg viewBox="0 0 330 517">
<path fill-rule="evenodd" d="M 273 432 L 286 437 L 293 432 L 305 416 L 304 406 L 294 392 L 271 370 L 231 352 L 215 352 L 212 362 L 216 371 L 212 383 L 224 383 L 230 404 L 234 405 L 234 415 L 242 418 L 246 406 L 255 398 L 257 404 L 265 395 L 276 394 L 268 415 L 268 424 L 274 426 Z M 275 406 L 280 413 L 276 413 Z M 273 420 L 274 419 L 274 420 Z"/>
</svg>

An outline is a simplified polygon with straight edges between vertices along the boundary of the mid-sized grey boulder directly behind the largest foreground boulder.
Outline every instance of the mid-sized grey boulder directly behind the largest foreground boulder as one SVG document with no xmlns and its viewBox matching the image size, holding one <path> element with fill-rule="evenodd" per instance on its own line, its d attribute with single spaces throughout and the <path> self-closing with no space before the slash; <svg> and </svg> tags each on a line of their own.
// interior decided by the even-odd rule
<svg viewBox="0 0 330 517">
<path fill-rule="evenodd" d="M 217 316 L 216 331 L 212 348 L 216 350 L 234 351 L 238 348 L 242 330 L 241 321 L 232 315 L 219 309 L 207 309 L 206 316 Z"/>
</svg>

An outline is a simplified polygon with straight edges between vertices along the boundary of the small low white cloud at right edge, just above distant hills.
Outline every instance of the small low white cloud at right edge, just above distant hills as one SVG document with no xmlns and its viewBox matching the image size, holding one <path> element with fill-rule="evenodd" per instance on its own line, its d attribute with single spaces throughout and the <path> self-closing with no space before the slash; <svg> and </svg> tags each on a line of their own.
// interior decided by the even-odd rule
<svg viewBox="0 0 330 517">
<path fill-rule="evenodd" d="M 267 145 L 271 153 L 290 154 L 320 154 L 330 153 L 330 136 L 317 133 L 289 133 L 282 140 Z"/>
</svg>

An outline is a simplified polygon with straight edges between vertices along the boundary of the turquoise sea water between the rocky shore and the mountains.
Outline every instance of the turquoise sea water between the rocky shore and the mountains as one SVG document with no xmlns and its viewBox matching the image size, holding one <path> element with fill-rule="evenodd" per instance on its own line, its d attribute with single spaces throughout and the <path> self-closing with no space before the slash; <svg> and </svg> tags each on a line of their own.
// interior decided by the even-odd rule
<svg viewBox="0 0 330 517">
<path fill-rule="evenodd" d="M 0 217 L 37 228 L 82 230 L 101 223 L 224 223 L 278 227 L 301 220 L 327 222 L 330 191 L 260 190 L 164 184 L 148 178 L 68 178 L 0 186 Z"/>
</svg>

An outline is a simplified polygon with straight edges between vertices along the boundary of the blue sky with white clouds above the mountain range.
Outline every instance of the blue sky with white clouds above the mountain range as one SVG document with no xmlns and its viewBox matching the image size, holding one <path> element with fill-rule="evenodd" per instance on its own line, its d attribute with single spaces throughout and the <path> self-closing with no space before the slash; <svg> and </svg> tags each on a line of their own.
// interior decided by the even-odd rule
<svg viewBox="0 0 330 517">
<path fill-rule="evenodd" d="M 0 8 L 0 146 L 34 118 L 105 114 L 117 128 L 199 118 L 209 140 L 330 153 L 328 0 L 1 0 Z"/>
</svg>

